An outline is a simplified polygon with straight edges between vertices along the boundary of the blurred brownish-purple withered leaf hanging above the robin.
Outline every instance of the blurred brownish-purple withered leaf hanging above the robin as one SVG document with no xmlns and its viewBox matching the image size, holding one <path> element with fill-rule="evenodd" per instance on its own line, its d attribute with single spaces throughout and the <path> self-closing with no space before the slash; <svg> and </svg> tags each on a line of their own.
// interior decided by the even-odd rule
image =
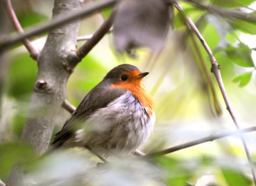
<svg viewBox="0 0 256 186">
<path fill-rule="evenodd" d="M 116 8 L 114 43 L 119 52 L 135 47 L 160 50 L 170 25 L 171 9 L 165 0 L 123 0 Z"/>
</svg>

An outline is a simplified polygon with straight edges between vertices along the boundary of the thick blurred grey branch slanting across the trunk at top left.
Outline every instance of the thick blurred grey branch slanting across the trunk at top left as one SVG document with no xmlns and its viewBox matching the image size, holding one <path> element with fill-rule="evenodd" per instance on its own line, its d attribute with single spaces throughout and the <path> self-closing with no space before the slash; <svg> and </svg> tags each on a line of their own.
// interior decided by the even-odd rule
<svg viewBox="0 0 256 186">
<path fill-rule="evenodd" d="M 3 50 L 4 48 L 8 48 L 11 45 L 14 45 L 14 44 L 24 40 L 25 38 L 29 38 L 31 36 L 38 35 L 42 32 L 46 32 L 48 30 L 56 28 L 57 26 L 64 25 L 70 21 L 74 21 L 75 19 L 82 18 L 84 16 L 92 14 L 98 10 L 101 10 L 102 8 L 112 6 L 117 1 L 118 0 L 101 0 L 100 2 L 95 2 L 91 6 L 85 6 L 81 10 L 69 12 L 65 16 L 58 16 L 57 18 L 52 19 L 51 21 L 49 21 L 47 23 L 42 23 L 38 26 L 30 27 L 27 32 L 20 33 L 14 37 L 11 34 L 2 36 L 0 38 L 0 51 Z"/>
</svg>

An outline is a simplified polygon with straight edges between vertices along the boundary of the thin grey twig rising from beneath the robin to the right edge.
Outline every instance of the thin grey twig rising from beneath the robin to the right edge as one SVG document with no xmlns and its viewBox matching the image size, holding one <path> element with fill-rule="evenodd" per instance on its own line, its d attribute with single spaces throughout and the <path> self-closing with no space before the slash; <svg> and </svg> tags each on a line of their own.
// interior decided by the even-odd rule
<svg viewBox="0 0 256 186">
<path fill-rule="evenodd" d="M 220 134 L 216 134 L 216 135 L 209 135 L 207 137 L 203 137 L 194 141 L 189 141 L 187 143 L 183 143 L 181 145 L 177 145 L 171 148 L 167 148 L 158 152 L 154 152 L 154 153 L 150 153 L 150 154 L 146 154 L 142 157 L 155 157 L 155 156 L 162 156 L 165 154 L 169 154 L 169 153 L 173 153 L 175 151 L 179 151 L 182 150 L 184 148 L 189 148 L 189 147 L 193 147 L 205 142 L 209 142 L 209 141 L 214 141 L 220 138 L 224 138 L 230 135 L 241 135 L 243 133 L 248 133 L 248 132 L 253 132 L 256 131 L 256 126 L 255 127 L 250 127 L 250 128 L 244 128 L 241 130 L 234 130 L 234 131 L 228 131 L 228 132 L 222 132 Z"/>
</svg>

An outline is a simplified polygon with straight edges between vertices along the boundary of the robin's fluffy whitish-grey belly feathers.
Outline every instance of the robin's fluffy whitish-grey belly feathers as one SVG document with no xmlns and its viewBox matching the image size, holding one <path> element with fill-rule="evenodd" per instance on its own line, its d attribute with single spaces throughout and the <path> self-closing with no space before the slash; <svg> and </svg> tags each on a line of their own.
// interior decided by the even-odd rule
<svg viewBox="0 0 256 186">
<path fill-rule="evenodd" d="M 147 108 L 128 90 L 90 115 L 77 130 L 75 141 L 78 146 L 89 146 L 100 154 L 130 153 L 148 140 L 154 124 L 154 111 L 149 116 Z"/>
</svg>

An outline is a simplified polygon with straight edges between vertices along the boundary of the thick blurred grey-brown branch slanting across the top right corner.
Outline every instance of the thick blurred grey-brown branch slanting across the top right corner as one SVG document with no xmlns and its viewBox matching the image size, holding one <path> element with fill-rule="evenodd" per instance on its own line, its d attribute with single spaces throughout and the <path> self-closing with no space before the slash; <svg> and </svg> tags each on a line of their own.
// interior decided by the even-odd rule
<svg viewBox="0 0 256 186">
<path fill-rule="evenodd" d="M 208 12 L 216 13 L 221 16 L 226 16 L 226 17 L 231 17 L 231 18 L 236 18 L 236 19 L 244 19 L 247 21 L 256 22 L 256 14 L 244 13 L 244 12 L 237 11 L 237 10 L 230 10 L 230 9 L 223 8 L 221 6 L 216 6 L 216 5 L 204 5 L 204 4 L 202 4 L 198 1 L 194 1 L 194 0 L 185 0 L 185 1 L 191 3 L 192 5 L 197 6 L 199 8 L 207 10 Z"/>
</svg>

